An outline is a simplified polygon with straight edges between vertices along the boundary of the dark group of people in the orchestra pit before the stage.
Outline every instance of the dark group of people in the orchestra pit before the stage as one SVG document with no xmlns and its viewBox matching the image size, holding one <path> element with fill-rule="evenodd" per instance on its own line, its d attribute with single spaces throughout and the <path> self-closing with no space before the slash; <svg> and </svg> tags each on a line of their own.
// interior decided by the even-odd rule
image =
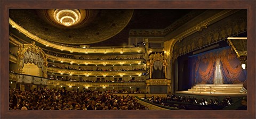
<svg viewBox="0 0 256 119">
<path fill-rule="evenodd" d="M 195 97 L 190 97 L 190 96 L 186 97 L 186 96 L 168 95 L 167 98 L 162 98 L 159 96 L 151 97 L 149 101 L 155 104 L 159 104 L 163 106 L 171 106 L 171 107 L 180 108 L 180 109 L 198 109 L 197 107 L 202 109 L 202 106 L 205 106 L 209 109 L 222 109 L 233 103 L 233 100 L 231 99 L 230 96 L 226 96 L 222 100 L 219 100 L 218 97 L 216 97 L 215 99 L 208 100 L 206 98 L 197 99 Z M 175 105 L 175 102 L 178 102 L 177 104 L 180 104 L 180 105 L 177 105 L 177 104 Z"/>
</svg>

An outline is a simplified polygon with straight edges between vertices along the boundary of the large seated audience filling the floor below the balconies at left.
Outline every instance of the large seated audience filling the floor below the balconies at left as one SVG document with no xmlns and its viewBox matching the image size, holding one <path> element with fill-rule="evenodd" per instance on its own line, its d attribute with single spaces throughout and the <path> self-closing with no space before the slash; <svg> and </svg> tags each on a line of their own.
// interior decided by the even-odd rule
<svg viewBox="0 0 256 119">
<path fill-rule="evenodd" d="M 105 91 L 106 92 L 106 91 Z M 148 110 L 133 96 L 65 89 L 10 89 L 10 110 Z"/>
</svg>

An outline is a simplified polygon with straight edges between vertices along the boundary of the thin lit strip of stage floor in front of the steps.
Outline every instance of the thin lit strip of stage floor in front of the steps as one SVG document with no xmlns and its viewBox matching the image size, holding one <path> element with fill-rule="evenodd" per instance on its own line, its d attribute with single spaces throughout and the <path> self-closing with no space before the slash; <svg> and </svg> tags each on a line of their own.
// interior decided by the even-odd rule
<svg viewBox="0 0 256 119">
<path fill-rule="evenodd" d="M 216 92 L 210 94 L 210 92 L 192 92 L 192 91 L 175 91 L 175 94 L 186 94 L 186 95 L 198 95 L 198 96 L 217 96 L 217 97 L 225 97 L 225 96 L 230 96 L 230 97 L 246 97 L 247 93 L 221 93 L 221 92 Z"/>
</svg>

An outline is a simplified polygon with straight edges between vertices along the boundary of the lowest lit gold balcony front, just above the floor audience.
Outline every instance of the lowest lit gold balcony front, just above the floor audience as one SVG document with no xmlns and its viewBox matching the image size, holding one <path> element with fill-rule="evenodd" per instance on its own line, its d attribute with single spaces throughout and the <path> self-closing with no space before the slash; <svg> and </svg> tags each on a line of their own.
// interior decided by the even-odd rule
<svg viewBox="0 0 256 119">
<path fill-rule="evenodd" d="M 145 82 L 75 82 L 62 80 L 47 80 L 47 85 L 76 87 L 146 87 Z"/>
</svg>

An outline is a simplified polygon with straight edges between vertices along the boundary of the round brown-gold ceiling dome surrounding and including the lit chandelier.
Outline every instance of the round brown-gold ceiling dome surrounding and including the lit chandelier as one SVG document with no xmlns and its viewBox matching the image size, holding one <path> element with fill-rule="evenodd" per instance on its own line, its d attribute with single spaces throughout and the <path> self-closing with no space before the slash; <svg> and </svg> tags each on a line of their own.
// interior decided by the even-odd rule
<svg viewBox="0 0 256 119">
<path fill-rule="evenodd" d="M 10 18 L 38 37 L 61 44 L 99 43 L 122 31 L 133 10 L 10 10 Z"/>
</svg>

